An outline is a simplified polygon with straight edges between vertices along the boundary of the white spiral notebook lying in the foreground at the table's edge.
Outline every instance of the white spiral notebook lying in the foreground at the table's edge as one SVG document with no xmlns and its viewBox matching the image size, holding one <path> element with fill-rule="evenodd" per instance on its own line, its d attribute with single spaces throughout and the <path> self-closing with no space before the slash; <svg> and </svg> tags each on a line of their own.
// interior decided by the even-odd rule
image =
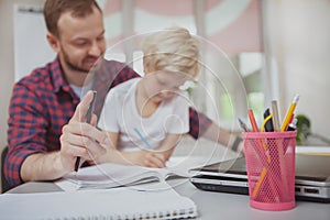
<svg viewBox="0 0 330 220">
<path fill-rule="evenodd" d="M 1 219 L 183 219 L 195 218 L 194 201 L 166 183 L 133 187 L 0 195 Z"/>
</svg>

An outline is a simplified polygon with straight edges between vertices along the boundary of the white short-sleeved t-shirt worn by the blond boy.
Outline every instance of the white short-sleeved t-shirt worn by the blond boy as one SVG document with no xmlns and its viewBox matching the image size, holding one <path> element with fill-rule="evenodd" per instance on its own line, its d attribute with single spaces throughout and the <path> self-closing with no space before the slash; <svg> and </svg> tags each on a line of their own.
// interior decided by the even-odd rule
<svg viewBox="0 0 330 220">
<path fill-rule="evenodd" d="M 148 118 L 142 118 L 136 107 L 136 86 L 141 78 L 130 79 L 112 88 L 105 100 L 98 127 L 118 132 L 118 148 L 133 151 L 146 148 L 134 129 L 154 147 L 158 147 L 167 133 L 183 134 L 189 131 L 189 100 L 186 91 L 179 91 L 170 100 L 164 100 Z"/>
</svg>

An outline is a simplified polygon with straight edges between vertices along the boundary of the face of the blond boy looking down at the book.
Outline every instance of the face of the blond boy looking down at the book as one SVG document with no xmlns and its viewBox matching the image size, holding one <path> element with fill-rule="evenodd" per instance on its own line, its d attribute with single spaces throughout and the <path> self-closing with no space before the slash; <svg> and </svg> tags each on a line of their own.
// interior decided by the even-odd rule
<svg viewBox="0 0 330 220">
<path fill-rule="evenodd" d="M 188 79 L 189 77 L 183 73 L 160 70 L 144 76 L 144 87 L 153 102 L 161 102 L 176 96 L 180 90 L 179 87 Z"/>
</svg>

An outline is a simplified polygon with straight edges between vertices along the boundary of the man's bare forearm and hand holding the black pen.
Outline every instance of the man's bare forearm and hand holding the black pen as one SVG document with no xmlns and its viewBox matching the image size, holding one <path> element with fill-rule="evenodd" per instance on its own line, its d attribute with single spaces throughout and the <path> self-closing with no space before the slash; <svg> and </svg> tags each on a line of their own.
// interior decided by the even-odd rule
<svg viewBox="0 0 330 220">
<path fill-rule="evenodd" d="M 31 153 L 23 158 L 19 177 L 22 182 L 53 180 L 74 170 L 77 156 L 82 160 L 92 160 L 96 155 L 105 153 L 99 143 L 108 144 L 109 140 L 103 132 L 95 128 L 96 116 L 91 124 L 85 123 L 85 116 L 92 92 L 88 92 L 85 99 L 77 106 L 74 117 L 63 128 L 61 136 L 61 150 L 52 153 Z M 98 141 L 98 142 L 96 142 Z M 19 150 L 15 150 L 20 154 Z M 10 164 L 7 166 L 10 167 Z M 14 182 L 13 185 L 21 184 Z"/>
</svg>

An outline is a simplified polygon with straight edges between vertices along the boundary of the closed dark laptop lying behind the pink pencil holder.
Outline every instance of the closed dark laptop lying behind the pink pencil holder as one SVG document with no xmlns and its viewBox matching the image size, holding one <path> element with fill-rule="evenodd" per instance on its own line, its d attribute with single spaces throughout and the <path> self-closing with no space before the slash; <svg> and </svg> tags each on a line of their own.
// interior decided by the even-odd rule
<svg viewBox="0 0 330 220">
<path fill-rule="evenodd" d="M 190 169 L 191 184 L 209 191 L 249 195 L 245 158 Z M 330 202 L 330 156 L 296 154 L 297 200 Z"/>
</svg>

